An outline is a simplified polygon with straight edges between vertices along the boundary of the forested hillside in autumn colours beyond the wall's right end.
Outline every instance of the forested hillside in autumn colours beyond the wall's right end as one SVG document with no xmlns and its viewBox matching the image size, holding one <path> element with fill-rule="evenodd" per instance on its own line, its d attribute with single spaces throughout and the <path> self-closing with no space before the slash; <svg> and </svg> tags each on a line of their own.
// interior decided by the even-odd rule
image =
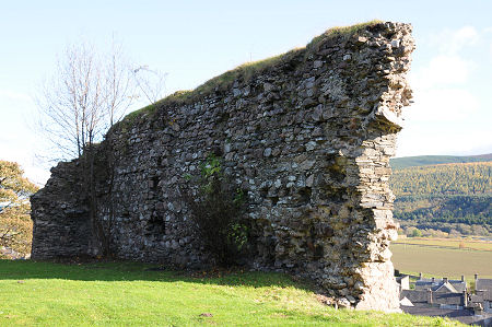
<svg viewBox="0 0 492 327">
<path fill-rule="evenodd" d="M 492 162 L 394 168 L 395 218 L 403 227 L 492 233 Z"/>
</svg>

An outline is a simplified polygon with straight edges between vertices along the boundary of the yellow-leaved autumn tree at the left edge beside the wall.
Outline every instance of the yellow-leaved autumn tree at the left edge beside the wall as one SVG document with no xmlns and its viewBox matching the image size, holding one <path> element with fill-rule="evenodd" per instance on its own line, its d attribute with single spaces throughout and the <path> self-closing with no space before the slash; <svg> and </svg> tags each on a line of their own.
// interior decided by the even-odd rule
<svg viewBox="0 0 492 327">
<path fill-rule="evenodd" d="M 27 255 L 33 238 L 28 197 L 38 188 L 23 174 L 17 163 L 0 160 L 0 248 Z"/>
</svg>

